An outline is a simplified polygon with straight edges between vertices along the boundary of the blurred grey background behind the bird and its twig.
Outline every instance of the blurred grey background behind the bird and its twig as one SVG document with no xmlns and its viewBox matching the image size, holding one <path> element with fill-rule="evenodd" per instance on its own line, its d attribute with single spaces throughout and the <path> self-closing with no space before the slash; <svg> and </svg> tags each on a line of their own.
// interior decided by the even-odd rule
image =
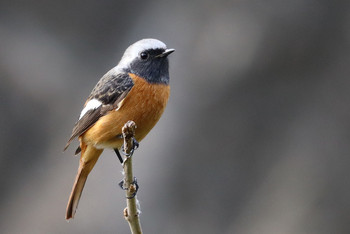
<svg viewBox="0 0 350 234">
<path fill-rule="evenodd" d="M 349 1 L 0 2 L 1 233 L 129 233 L 106 150 L 65 208 L 82 105 L 158 38 L 172 94 L 134 155 L 145 233 L 350 233 Z"/>
</svg>

